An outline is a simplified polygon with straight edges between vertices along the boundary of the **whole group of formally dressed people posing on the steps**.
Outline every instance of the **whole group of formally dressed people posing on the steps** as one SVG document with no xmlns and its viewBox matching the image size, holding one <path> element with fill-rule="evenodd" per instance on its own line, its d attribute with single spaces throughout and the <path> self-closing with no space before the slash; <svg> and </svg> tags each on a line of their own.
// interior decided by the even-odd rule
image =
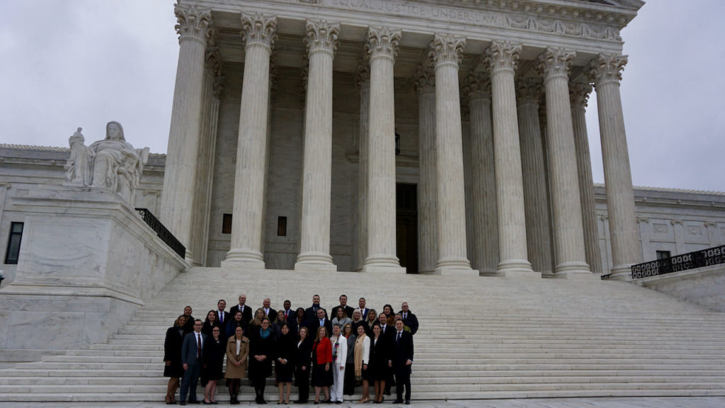
<svg viewBox="0 0 725 408">
<path fill-rule="evenodd" d="M 257 404 L 266 404 L 265 383 L 272 373 L 278 384 L 278 404 L 289 404 L 292 379 L 298 388 L 296 404 L 310 398 L 315 388 L 315 404 L 341 404 L 343 395 L 355 393 L 363 386 L 359 403 L 370 401 L 370 384 L 374 385 L 374 402 L 384 401 L 396 385 L 394 404 L 410 404 L 410 372 L 413 364 L 413 335 L 418 331 L 418 317 L 403 302 L 395 313 L 389 304 L 378 312 L 369 309 L 365 298 L 358 308 L 347 306 L 347 295 L 330 314 L 320 306 L 320 296 L 312 296 L 312 306 L 291 309 L 284 301 L 276 311 L 269 298 L 252 314 L 247 295 L 239 295 L 239 304 L 225 311 L 226 301 L 207 312 L 206 318 L 194 319 L 191 306 L 175 319 L 166 332 L 164 376 L 169 378 L 166 403 L 176 404 L 179 391 L 181 405 L 199 404 L 196 386 L 204 386 L 204 404 L 215 401 L 218 380 L 224 378 L 230 404 L 239 404 L 241 379 L 249 377 Z M 332 317 L 332 319 L 330 319 Z M 224 356 L 226 370 L 224 372 Z M 181 381 L 180 381 L 181 379 Z M 404 399 L 405 390 L 405 399 Z"/>
</svg>

